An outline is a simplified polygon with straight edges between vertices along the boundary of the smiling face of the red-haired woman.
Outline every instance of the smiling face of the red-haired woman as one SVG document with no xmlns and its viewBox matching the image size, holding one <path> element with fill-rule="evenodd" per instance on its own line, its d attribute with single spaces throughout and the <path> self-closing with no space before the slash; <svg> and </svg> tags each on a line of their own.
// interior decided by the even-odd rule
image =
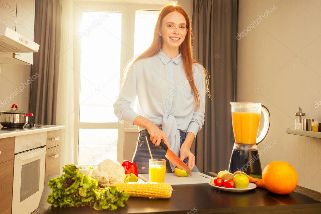
<svg viewBox="0 0 321 214">
<path fill-rule="evenodd" d="M 179 47 L 186 34 L 186 20 L 181 13 L 171 12 L 163 18 L 159 32 L 163 40 L 163 46 Z"/>
</svg>

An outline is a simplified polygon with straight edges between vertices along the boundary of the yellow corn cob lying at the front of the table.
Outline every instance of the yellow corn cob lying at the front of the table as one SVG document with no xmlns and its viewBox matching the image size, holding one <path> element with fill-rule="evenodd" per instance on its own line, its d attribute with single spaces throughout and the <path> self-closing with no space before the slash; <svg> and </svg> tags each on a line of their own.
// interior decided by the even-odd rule
<svg viewBox="0 0 321 214">
<path fill-rule="evenodd" d="M 130 197 L 142 197 L 142 198 L 169 198 L 172 195 L 173 188 L 167 183 L 118 183 L 112 184 L 119 190 L 128 192 Z"/>
</svg>

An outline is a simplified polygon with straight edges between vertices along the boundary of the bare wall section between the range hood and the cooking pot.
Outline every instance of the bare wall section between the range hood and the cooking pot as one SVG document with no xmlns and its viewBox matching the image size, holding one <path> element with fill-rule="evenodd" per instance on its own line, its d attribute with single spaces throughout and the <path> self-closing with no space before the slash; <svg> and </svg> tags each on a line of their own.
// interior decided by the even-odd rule
<svg viewBox="0 0 321 214">
<path fill-rule="evenodd" d="M 30 74 L 31 65 L 0 64 L 0 111 L 10 110 L 12 104 L 29 111 Z"/>
</svg>

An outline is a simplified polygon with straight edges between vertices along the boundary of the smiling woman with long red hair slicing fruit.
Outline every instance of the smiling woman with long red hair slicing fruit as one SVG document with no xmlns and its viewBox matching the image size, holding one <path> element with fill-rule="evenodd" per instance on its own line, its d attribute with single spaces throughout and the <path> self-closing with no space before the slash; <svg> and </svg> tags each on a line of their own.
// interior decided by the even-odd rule
<svg viewBox="0 0 321 214">
<path fill-rule="evenodd" d="M 204 67 L 193 58 L 191 38 L 186 11 L 179 5 L 165 6 L 158 16 L 151 46 L 129 66 L 113 105 L 120 123 L 139 126 L 133 156 L 138 173 L 149 172 L 145 136 L 153 158 L 166 159 L 166 151 L 159 146 L 163 140 L 192 171 L 198 171 L 190 148 L 204 124 L 208 78 Z M 138 113 L 133 110 L 136 96 Z M 174 167 L 167 160 L 166 172 Z"/>
</svg>

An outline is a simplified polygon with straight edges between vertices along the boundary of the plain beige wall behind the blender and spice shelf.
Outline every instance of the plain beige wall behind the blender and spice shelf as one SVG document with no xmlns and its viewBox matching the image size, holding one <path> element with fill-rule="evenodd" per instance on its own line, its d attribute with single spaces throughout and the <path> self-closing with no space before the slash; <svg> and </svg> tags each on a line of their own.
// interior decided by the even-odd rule
<svg viewBox="0 0 321 214">
<path fill-rule="evenodd" d="M 278 4 L 280 2 L 280 4 Z M 265 13 L 271 9 L 270 14 Z M 237 101 L 262 102 L 271 114 L 270 131 L 258 149 L 277 143 L 261 156 L 262 168 L 274 160 L 290 163 L 300 186 L 321 192 L 321 139 L 286 133 L 302 107 L 321 123 L 321 1 L 239 0 Z"/>
</svg>

